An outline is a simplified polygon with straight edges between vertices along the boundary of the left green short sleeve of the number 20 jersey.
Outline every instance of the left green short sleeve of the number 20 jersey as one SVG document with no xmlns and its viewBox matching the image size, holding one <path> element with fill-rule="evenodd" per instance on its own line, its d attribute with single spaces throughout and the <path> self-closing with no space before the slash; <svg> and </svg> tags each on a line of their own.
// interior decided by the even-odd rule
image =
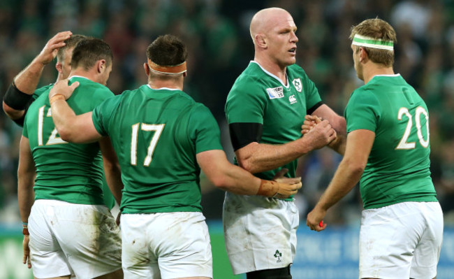
<svg viewBox="0 0 454 279">
<path fill-rule="evenodd" d="M 347 133 L 358 129 L 376 131 L 381 113 L 380 104 L 372 92 L 356 90 L 345 108 Z"/>
</svg>

